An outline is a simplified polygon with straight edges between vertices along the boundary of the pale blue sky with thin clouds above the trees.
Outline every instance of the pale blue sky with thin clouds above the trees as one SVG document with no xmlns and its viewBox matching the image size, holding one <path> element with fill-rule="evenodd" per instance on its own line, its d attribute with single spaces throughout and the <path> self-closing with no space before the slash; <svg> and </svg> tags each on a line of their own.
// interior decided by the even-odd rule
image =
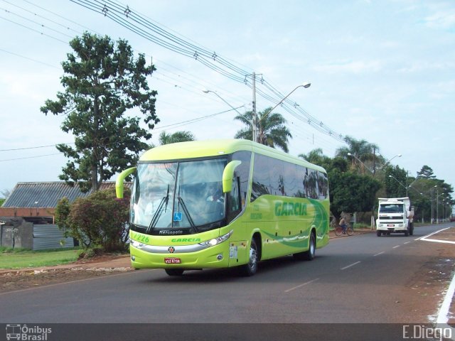
<svg viewBox="0 0 455 341">
<path fill-rule="evenodd" d="M 104 4 L 213 51 L 247 82 L 90 9 Z M 254 72 L 258 111 L 287 95 L 294 103 L 274 110 L 287 119 L 292 155 L 321 148 L 333 157 L 350 136 L 410 176 L 427 165 L 455 186 L 455 1 L 0 0 L 0 193 L 59 180 L 66 160 L 55 144 L 74 139 L 60 129 L 64 117 L 40 107 L 63 91 L 60 63 L 84 31 L 125 39 L 154 63 L 154 144 L 161 131 L 232 138 L 243 128 L 233 117 L 252 109 Z"/>
</svg>

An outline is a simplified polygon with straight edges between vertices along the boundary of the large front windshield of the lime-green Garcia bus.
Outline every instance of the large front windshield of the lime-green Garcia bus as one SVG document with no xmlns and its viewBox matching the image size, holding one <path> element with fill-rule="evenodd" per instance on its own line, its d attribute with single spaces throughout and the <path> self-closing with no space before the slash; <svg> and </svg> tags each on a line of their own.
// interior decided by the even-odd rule
<svg viewBox="0 0 455 341">
<path fill-rule="evenodd" d="M 226 164 L 226 158 L 140 163 L 132 193 L 132 224 L 146 233 L 181 234 L 182 229 L 201 232 L 224 220 Z"/>
</svg>

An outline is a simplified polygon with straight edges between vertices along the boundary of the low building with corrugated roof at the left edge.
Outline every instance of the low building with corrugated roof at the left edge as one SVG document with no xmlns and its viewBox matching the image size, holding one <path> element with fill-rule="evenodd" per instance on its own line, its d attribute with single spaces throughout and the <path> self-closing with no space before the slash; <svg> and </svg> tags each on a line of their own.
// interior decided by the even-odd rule
<svg viewBox="0 0 455 341">
<path fill-rule="evenodd" d="M 114 185 L 108 181 L 100 189 Z M 0 247 L 33 250 L 73 247 L 73 239 L 63 237 L 55 224 L 55 207 L 63 197 L 73 202 L 91 193 L 92 190 L 82 193 L 77 185 L 63 181 L 17 183 L 0 207 Z"/>
</svg>

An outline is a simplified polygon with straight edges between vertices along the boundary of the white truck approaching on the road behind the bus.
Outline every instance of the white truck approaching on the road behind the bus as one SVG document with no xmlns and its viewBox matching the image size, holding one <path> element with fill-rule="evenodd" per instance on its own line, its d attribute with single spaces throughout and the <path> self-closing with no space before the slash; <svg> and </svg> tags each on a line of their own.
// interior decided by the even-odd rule
<svg viewBox="0 0 455 341">
<path fill-rule="evenodd" d="M 412 218 L 414 207 L 409 197 L 380 197 L 376 233 L 382 234 L 404 233 L 409 236 L 414 233 Z"/>
</svg>

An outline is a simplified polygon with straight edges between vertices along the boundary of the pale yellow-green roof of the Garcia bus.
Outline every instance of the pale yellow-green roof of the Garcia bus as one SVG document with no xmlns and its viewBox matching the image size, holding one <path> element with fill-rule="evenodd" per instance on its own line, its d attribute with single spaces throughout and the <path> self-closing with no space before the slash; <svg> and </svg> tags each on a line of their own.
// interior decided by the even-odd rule
<svg viewBox="0 0 455 341">
<path fill-rule="evenodd" d="M 235 151 L 253 151 L 255 153 L 296 163 L 326 173 L 322 167 L 309 163 L 302 158 L 297 158 L 275 148 L 244 139 L 188 141 L 176 144 L 165 144 L 164 146 L 158 146 L 146 151 L 142 154 L 141 158 L 139 158 L 139 162 L 171 161 L 183 160 L 186 158 L 203 158 L 205 156 L 221 156 L 234 153 Z"/>
</svg>

